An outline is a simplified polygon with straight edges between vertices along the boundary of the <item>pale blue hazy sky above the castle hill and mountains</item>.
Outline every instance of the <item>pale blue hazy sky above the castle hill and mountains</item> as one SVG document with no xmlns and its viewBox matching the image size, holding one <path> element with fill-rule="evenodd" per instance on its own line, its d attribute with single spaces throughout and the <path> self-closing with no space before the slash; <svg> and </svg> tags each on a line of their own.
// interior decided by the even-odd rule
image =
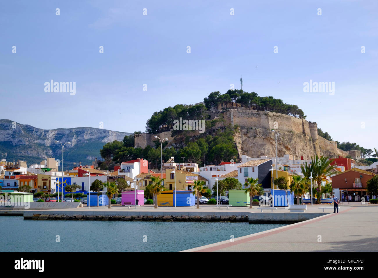
<svg viewBox="0 0 378 278">
<path fill-rule="evenodd" d="M 0 118 L 144 132 L 153 112 L 240 89 L 242 77 L 244 91 L 296 104 L 333 140 L 378 147 L 376 0 L 0 5 Z M 51 79 L 75 82 L 74 95 L 45 92 Z M 310 80 L 335 90 L 304 92 Z"/>
</svg>

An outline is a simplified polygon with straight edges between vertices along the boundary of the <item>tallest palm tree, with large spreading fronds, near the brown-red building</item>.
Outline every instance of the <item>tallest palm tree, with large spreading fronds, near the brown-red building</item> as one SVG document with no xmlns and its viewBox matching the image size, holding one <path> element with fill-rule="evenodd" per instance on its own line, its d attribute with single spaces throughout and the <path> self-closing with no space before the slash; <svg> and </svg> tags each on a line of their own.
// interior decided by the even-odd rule
<svg viewBox="0 0 378 278">
<path fill-rule="evenodd" d="M 322 182 L 327 180 L 327 176 L 332 174 L 332 170 L 335 169 L 336 165 L 331 165 L 333 159 L 328 159 L 328 157 L 315 155 L 311 157 L 311 165 L 308 166 L 307 163 L 304 166 L 301 166 L 302 173 L 305 178 L 310 177 L 310 172 L 312 171 L 312 176 L 314 182 L 318 184 L 318 193 L 322 192 Z M 321 203 L 321 197 L 316 200 L 317 204 Z"/>
</svg>

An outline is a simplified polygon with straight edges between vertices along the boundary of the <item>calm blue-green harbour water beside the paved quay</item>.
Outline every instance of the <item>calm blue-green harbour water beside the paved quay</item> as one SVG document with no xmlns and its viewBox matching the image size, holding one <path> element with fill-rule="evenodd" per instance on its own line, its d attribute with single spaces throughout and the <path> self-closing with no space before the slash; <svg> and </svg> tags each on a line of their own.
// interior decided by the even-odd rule
<svg viewBox="0 0 378 278">
<path fill-rule="evenodd" d="M 282 227 L 248 222 L 36 221 L 0 216 L 7 252 L 177 252 Z M 60 242 L 56 242 L 56 236 Z M 147 239 L 144 242 L 143 239 Z"/>
</svg>

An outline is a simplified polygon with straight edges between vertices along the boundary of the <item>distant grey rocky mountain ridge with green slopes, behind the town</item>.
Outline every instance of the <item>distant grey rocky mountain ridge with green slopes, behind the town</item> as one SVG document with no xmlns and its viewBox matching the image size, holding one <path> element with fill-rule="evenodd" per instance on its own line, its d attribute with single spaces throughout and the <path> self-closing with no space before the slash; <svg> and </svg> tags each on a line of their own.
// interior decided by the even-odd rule
<svg viewBox="0 0 378 278">
<path fill-rule="evenodd" d="M 105 143 L 122 141 L 127 132 L 118 132 L 94 127 L 75 127 L 72 129 L 39 129 L 28 124 L 19 124 L 11 120 L 0 120 L 0 159 L 7 161 L 26 160 L 28 165 L 39 163 L 47 157 L 62 159 L 64 146 L 64 165 L 72 168 L 73 162 L 83 165 L 92 164 L 95 158 L 101 158 L 100 149 Z M 64 167 L 66 169 L 66 167 Z"/>
</svg>

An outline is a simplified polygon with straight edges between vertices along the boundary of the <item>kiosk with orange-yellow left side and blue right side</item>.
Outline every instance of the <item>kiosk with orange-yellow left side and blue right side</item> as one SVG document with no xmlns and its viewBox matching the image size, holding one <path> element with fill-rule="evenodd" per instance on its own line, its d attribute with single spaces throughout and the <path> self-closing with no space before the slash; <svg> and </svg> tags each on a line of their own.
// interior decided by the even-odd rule
<svg viewBox="0 0 378 278">
<path fill-rule="evenodd" d="M 176 190 L 176 207 L 191 207 L 195 205 L 193 191 Z M 158 194 L 158 206 L 174 207 L 175 190 L 167 190 Z"/>
</svg>

